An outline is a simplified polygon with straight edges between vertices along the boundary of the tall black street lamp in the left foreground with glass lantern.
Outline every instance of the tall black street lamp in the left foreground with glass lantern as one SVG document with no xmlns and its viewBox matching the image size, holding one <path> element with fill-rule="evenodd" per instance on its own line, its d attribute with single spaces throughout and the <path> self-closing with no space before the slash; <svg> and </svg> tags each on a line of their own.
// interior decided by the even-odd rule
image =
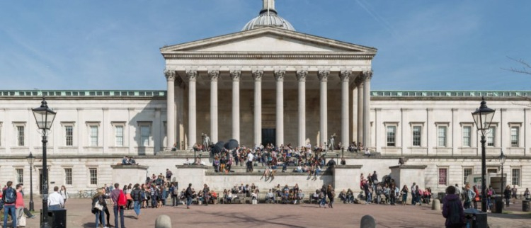
<svg viewBox="0 0 531 228">
<path fill-rule="evenodd" d="M 47 132 L 52 128 L 55 119 L 55 112 L 48 108 L 46 99 L 42 96 L 39 108 L 33 108 L 33 115 L 40 130 L 42 130 L 42 222 L 41 227 L 48 226 L 48 166 L 46 164 L 46 144 L 48 142 Z"/>
</svg>

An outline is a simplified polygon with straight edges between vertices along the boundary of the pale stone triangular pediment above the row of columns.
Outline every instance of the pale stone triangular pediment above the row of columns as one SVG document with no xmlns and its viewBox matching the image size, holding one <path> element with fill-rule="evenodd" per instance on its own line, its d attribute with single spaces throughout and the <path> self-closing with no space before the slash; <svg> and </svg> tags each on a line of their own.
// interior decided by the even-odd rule
<svg viewBox="0 0 531 228">
<path fill-rule="evenodd" d="M 376 54 L 373 47 L 321 38 L 280 28 L 258 28 L 179 45 L 162 47 L 161 52 L 291 52 L 291 53 L 363 53 Z"/>
</svg>

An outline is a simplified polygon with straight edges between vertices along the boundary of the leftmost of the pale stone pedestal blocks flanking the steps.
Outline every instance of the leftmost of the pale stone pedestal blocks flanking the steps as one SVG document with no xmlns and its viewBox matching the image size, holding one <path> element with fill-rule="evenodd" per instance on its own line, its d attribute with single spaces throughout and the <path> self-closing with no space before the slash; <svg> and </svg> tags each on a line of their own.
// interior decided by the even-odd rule
<svg viewBox="0 0 531 228">
<path fill-rule="evenodd" d="M 140 165 L 113 165 L 113 184 L 120 183 L 120 188 L 126 183 L 144 183 L 149 166 Z"/>
</svg>

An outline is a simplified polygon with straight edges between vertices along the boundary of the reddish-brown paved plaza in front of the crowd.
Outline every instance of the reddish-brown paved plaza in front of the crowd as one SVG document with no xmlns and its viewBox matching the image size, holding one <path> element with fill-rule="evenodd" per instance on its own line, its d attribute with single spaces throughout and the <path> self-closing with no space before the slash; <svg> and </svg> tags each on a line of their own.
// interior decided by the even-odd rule
<svg viewBox="0 0 531 228">
<path fill-rule="evenodd" d="M 25 200 L 28 205 L 29 200 Z M 40 201 L 35 199 L 35 209 Z M 489 214 L 491 228 L 530 227 L 531 216 L 522 214 L 521 204 L 509 210 L 518 214 Z M 173 227 L 360 227 L 363 215 L 375 217 L 377 227 L 444 227 L 440 211 L 428 205 L 351 205 L 336 203 L 333 209 L 319 208 L 314 204 L 302 205 L 183 205 L 159 209 L 142 209 L 139 220 L 133 210 L 125 211 L 125 224 L 132 227 L 154 227 L 159 215 L 169 215 Z M 67 202 L 67 227 L 95 227 L 89 199 L 69 199 Z M 112 207 L 110 222 L 114 224 Z M 38 227 L 38 219 L 28 220 L 27 227 Z"/>
</svg>

